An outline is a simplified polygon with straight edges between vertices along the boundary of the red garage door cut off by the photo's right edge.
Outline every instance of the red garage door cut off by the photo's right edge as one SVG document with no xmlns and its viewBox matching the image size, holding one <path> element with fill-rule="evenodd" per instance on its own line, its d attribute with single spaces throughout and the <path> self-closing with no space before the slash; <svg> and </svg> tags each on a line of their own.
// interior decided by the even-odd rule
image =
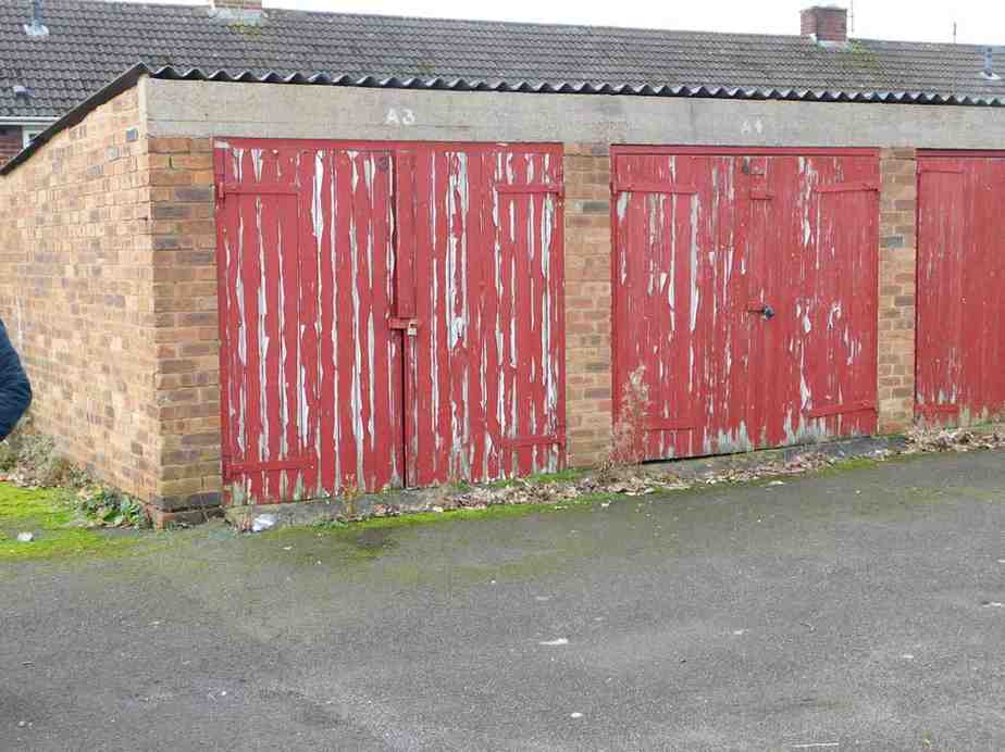
<svg viewBox="0 0 1005 752">
<path fill-rule="evenodd" d="M 1005 415 L 1005 154 L 918 160 L 916 408 L 935 423 Z"/>
</svg>

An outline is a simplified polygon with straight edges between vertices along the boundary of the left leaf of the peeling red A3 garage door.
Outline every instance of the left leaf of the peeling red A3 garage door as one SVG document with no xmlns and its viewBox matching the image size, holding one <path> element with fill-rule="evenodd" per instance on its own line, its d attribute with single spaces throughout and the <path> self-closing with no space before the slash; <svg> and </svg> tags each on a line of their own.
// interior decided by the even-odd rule
<svg viewBox="0 0 1005 752">
<path fill-rule="evenodd" d="M 232 496 L 400 485 L 392 154 L 235 145 L 219 161 Z"/>
</svg>

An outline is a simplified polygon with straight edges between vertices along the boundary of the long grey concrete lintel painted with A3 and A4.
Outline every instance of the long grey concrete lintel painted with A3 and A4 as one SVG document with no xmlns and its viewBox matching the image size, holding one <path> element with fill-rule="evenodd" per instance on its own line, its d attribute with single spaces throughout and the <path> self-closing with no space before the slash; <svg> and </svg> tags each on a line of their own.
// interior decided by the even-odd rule
<svg viewBox="0 0 1005 752">
<path fill-rule="evenodd" d="M 1005 109 L 151 79 L 151 136 L 995 149 Z"/>
</svg>

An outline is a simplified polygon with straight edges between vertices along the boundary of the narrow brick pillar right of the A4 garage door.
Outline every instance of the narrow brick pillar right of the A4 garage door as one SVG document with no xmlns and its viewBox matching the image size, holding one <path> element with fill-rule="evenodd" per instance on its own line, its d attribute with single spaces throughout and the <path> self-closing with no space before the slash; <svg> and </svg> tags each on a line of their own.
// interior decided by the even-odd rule
<svg viewBox="0 0 1005 752">
<path fill-rule="evenodd" d="M 914 149 L 880 154 L 879 430 L 914 423 L 918 177 Z"/>
</svg>

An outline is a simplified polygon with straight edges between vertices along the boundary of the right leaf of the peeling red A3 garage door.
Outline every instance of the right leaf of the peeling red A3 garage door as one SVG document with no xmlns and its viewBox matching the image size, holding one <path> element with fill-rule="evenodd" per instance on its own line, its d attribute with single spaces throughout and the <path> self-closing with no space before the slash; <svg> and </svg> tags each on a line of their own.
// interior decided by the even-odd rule
<svg viewBox="0 0 1005 752">
<path fill-rule="evenodd" d="M 559 468 L 561 156 L 417 151 L 420 486 Z"/>
</svg>

